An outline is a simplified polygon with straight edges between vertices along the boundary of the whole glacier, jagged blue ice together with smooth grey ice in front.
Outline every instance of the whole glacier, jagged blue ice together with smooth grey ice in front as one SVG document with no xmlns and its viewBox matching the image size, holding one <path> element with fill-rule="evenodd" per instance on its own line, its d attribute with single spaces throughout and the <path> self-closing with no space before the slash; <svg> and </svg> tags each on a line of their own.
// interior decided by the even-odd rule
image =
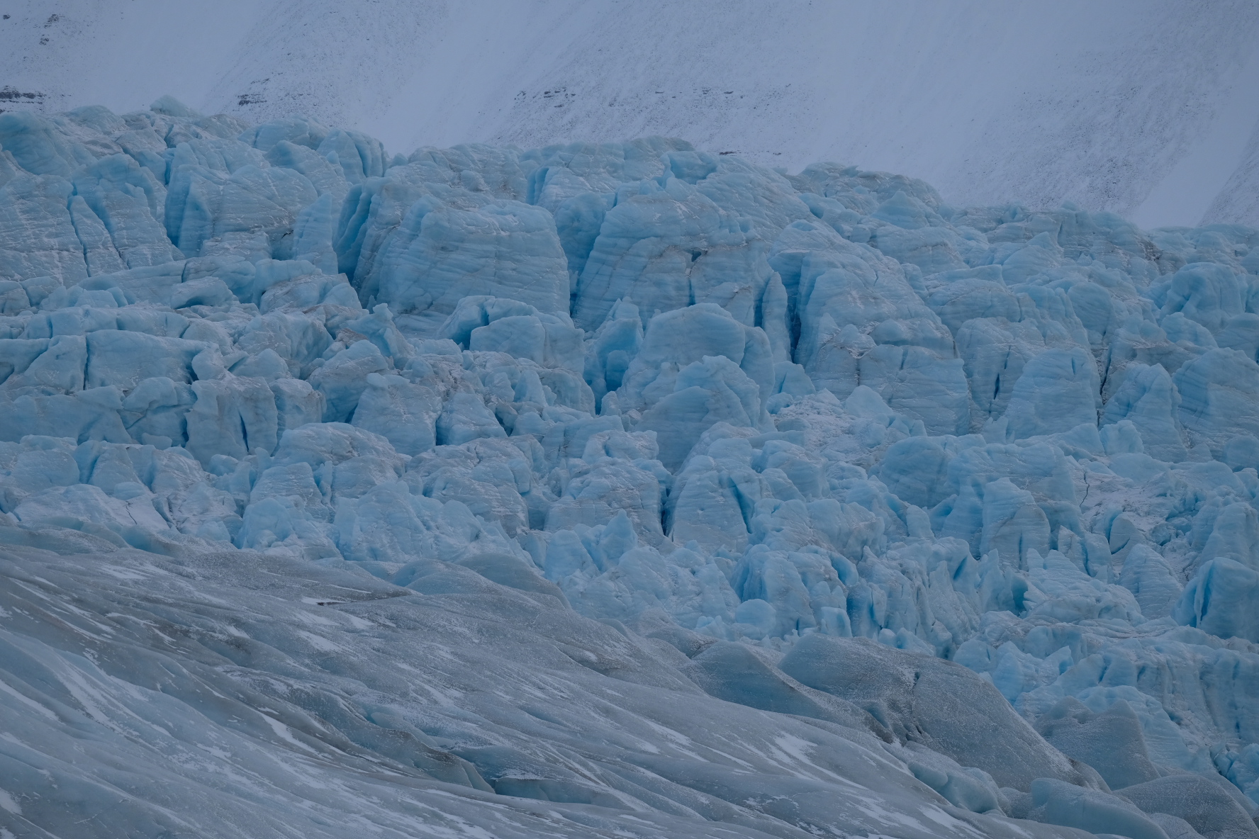
<svg viewBox="0 0 1259 839">
<path fill-rule="evenodd" d="M 1259 230 L 0 113 L 0 836 L 1259 836 Z"/>
</svg>

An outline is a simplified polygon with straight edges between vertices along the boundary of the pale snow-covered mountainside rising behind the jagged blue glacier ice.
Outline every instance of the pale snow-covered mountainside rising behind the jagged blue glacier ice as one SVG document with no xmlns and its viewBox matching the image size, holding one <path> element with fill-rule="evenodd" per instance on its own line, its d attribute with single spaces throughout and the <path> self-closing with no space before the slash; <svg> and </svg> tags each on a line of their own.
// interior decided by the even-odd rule
<svg viewBox="0 0 1259 839">
<path fill-rule="evenodd" d="M 0 107 L 306 113 L 421 145 L 685 136 L 954 205 L 1259 224 L 1259 8 L 638 0 L 15 0 Z M 1248 162 L 1249 161 L 1249 162 Z"/>
</svg>

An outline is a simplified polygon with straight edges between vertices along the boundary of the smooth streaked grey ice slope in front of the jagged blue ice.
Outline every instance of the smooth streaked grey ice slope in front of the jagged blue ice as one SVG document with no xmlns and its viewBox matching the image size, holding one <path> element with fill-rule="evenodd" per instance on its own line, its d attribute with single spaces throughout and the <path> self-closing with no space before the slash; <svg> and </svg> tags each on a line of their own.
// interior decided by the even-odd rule
<svg viewBox="0 0 1259 839">
<path fill-rule="evenodd" d="M 1076 835 L 473 571 L 0 541 L 0 835 Z"/>
</svg>

